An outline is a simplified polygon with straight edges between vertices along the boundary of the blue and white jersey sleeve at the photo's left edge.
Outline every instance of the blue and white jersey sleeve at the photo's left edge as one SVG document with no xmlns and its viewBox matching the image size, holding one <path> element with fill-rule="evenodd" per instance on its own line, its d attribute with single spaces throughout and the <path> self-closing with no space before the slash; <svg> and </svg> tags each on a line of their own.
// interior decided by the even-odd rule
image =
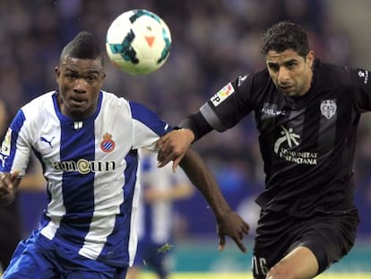
<svg viewBox="0 0 371 279">
<path fill-rule="evenodd" d="M 0 171 L 19 170 L 24 176 L 30 159 L 30 132 L 28 121 L 19 110 L 9 126 L 0 152 Z"/>
</svg>

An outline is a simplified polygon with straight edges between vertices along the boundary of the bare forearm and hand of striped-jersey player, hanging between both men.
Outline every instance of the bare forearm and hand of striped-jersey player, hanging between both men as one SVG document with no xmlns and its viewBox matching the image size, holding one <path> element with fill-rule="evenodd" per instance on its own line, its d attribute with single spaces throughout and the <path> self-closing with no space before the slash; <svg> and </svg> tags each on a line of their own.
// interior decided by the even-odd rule
<svg viewBox="0 0 371 279">
<path fill-rule="evenodd" d="M 211 206 L 218 225 L 220 250 L 224 248 L 225 237 L 229 236 L 236 242 L 237 247 L 245 253 L 246 247 L 242 240 L 248 233 L 249 226 L 238 214 L 231 210 L 221 194 L 216 180 L 201 157 L 192 148 L 189 148 L 180 161 L 180 166 Z"/>
</svg>

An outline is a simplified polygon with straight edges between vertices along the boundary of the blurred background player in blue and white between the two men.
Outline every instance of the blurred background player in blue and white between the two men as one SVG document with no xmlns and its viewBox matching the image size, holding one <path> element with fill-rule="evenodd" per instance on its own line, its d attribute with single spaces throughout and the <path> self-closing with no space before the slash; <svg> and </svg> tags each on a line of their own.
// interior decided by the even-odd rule
<svg viewBox="0 0 371 279">
<path fill-rule="evenodd" d="M 157 164 L 157 153 L 140 151 L 138 249 L 128 279 L 140 278 L 144 269 L 153 271 L 160 279 L 168 278 L 174 248 L 173 203 L 194 193 L 192 183 L 182 170 L 173 172 L 170 165 L 159 169 Z"/>
</svg>

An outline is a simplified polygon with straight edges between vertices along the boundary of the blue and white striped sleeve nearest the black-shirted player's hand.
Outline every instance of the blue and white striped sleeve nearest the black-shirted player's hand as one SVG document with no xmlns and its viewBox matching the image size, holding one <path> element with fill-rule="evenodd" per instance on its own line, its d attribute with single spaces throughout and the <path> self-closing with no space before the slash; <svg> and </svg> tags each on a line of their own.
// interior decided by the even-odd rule
<svg viewBox="0 0 371 279">
<path fill-rule="evenodd" d="M 172 127 L 161 120 L 155 112 L 142 104 L 131 101 L 130 108 L 134 121 L 134 149 L 143 147 L 154 151 L 157 140 L 160 136 L 170 132 Z"/>
</svg>

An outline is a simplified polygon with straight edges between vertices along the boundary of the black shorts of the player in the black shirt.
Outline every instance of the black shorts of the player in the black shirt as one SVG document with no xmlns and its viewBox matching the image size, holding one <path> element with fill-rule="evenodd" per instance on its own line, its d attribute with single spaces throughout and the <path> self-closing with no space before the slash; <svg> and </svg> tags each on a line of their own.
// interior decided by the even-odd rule
<svg viewBox="0 0 371 279">
<path fill-rule="evenodd" d="M 265 278 L 268 270 L 294 248 L 309 248 L 319 271 L 337 262 L 353 247 L 358 228 L 357 209 L 298 218 L 286 213 L 262 212 L 255 237 L 253 273 Z"/>
</svg>

